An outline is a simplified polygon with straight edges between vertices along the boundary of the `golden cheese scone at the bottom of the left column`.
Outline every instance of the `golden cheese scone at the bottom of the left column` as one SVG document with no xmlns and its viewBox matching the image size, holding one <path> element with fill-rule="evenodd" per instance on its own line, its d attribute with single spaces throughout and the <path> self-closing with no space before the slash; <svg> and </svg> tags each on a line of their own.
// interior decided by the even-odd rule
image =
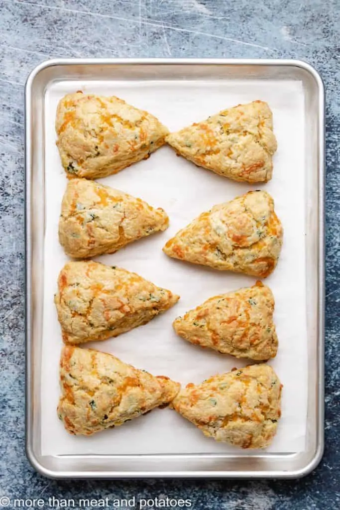
<svg viewBox="0 0 340 510">
<path fill-rule="evenodd" d="M 93 349 L 65 346 L 60 360 L 58 416 L 71 434 L 90 436 L 166 406 L 180 389 Z"/>
</svg>

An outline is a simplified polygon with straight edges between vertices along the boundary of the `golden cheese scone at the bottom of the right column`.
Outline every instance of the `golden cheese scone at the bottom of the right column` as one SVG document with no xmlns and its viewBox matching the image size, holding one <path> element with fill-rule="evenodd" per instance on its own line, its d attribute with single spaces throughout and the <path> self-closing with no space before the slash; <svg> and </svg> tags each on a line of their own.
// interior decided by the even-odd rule
<svg viewBox="0 0 340 510">
<path fill-rule="evenodd" d="M 216 441 L 266 448 L 281 416 L 281 388 L 269 365 L 251 365 L 187 385 L 171 406 Z"/>
</svg>

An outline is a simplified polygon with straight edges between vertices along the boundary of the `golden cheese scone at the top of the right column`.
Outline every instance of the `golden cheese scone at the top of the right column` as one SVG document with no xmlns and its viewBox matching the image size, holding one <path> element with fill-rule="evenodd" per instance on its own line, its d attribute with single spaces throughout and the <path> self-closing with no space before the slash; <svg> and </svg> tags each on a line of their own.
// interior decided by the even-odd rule
<svg viewBox="0 0 340 510">
<path fill-rule="evenodd" d="M 198 166 L 248 183 L 272 178 L 276 151 L 272 112 L 263 101 L 223 110 L 166 137 L 178 154 Z"/>
</svg>

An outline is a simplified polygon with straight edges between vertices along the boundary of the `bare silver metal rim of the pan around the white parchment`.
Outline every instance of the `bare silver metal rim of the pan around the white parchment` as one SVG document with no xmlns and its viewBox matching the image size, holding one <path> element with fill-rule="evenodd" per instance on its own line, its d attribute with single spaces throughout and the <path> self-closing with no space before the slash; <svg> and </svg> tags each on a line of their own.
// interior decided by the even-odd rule
<svg viewBox="0 0 340 510">
<path fill-rule="evenodd" d="M 293 80 L 304 94 L 305 269 L 308 395 L 305 448 L 289 453 L 43 455 L 41 353 L 45 237 L 45 92 L 56 82 Z M 25 91 L 27 253 L 27 454 L 50 477 L 299 477 L 323 452 L 324 88 L 308 64 L 289 60 L 53 60 Z M 104 349 L 103 349 L 104 350 Z"/>
</svg>

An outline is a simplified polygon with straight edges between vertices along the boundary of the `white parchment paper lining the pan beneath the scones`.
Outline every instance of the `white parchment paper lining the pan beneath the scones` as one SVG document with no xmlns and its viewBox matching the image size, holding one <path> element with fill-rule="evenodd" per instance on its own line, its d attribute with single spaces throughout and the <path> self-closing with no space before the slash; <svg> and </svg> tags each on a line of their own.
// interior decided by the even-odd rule
<svg viewBox="0 0 340 510">
<path fill-rule="evenodd" d="M 155 375 L 168 375 L 182 384 L 200 382 L 217 372 L 244 366 L 231 356 L 203 350 L 177 337 L 171 323 L 206 298 L 253 285 L 255 279 L 241 274 L 214 271 L 170 259 L 162 252 L 165 242 L 179 228 L 216 203 L 251 189 L 265 189 L 275 200 L 284 227 L 284 242 L 278 266 L 266 279 L 275 296 L 275 322 L 279 351 L 270 364 L 282 384 L 282 419 L 278 433 L 266 452 L 297 452 L 305 446 L 307 414 L 307 335 L 305 310 L 305 199 L 304 199 L 304 98 L 297 81 L 201 81 L 201 82 L 80 82 L 51 85 L 45 94 L 45 240 L 44 312 L 41 374 L 41 449 L 48 454 L 152 454 L 234 453 L 227 444 L 205 438 L 190 422 L 172 410 L 152 413 L 92 437 L 68 435 L 57 418 L 59 398 L 60 326 L 53 303 L 56 282 L 67 257 L 58 243 L 60 204 L 66 187 L 61 167 L 54 120 L 58 100 L 76 90 L 118 95 L 158 116 L 169 129 L 177 130 L 222 108 L 254 99 L 268 101 L 273 110 L 278 151 L 270 183 L 250 186 L 233 183 L 213 172 L 177 158 L 162 147 L 147 161 L 102 184 L 140 196 L 163 207 L 170 226 L 161 234 L 133 243 L 119 252 L 95 260 L 136 271 L 156 285 L 169 288 L 181 299 L 167 313 L 149 324 L 116 339 L 86 344 L 111 352 L 137 368 Z"/>
</svg>

